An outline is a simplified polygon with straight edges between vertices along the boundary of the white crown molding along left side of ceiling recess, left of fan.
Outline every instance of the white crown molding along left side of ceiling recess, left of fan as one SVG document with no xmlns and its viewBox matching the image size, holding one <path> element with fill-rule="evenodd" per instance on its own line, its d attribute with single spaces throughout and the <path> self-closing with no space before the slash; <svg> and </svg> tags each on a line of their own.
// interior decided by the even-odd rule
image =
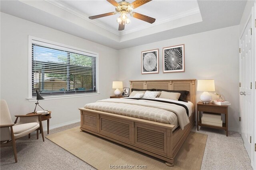
<svg viewBox="0 0 256 170">
<path fill-rule="evenodd" d="M 78 10 L 75 10 L 74 8 L 71 8 L 69 6 L 67 6 L 66 4 L 63 4 L 62 2 L 60 2 L 59 0 L 44 0 L 54 6 L 57 6 L 59 8 L 61 8 L 62 10 L 65 10 L 66 12 L 69 12 L 71 14 L 74 14 L 75 16 L 78 16 L 79 18 L 82 18 L 83 20 L 86 20 L 90 23 L 93 23 L 103 29 L 106 29 L 107 31 L 110 31 L 111 33 L 114 33 L 118 36 L 120 36 L 120 32 L 118 32 L 117 30 L 111 28 L 111 27 L 108 27 L 102 23 L 100 23 L 99 21 L 96 21 L 96 20 L 90 20 L 89 19 L 89 16 L 87 16 L 86 14 L 82 13 L 82 12 L 79 12 Z"/>
</svg>

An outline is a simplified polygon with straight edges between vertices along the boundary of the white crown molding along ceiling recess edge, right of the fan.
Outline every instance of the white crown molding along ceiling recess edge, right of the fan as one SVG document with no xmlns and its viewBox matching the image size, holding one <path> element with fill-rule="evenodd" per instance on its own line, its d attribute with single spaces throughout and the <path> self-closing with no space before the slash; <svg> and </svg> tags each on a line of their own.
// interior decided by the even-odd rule
<svg viewBox="0 0 256 170">
<path fill-rule="evenodd" d="M 199 8 L 194 8 L 192 10 L 188 10 L 188 11 L 182 12 L 180 14 L 176 14 L 176 15 L 173 15 L 173 16 L 163 18 L 162 20 L 158 20 L 158 21 L 152 23 L 151 25 L 152 26 L 160 25 L 162 23 L 170 22 L 170 21 L 173 21 L 173 20 L 177 20 L 177 19 L 180 19 L 180 18 L 184 18 L 184 17 L 187 17 L 187 16 L 198 14 L 198 13 L 200 13 L 200 9 Z M 128 34 L 128 33 L 132 33 L 132 32 L 135 32 L 135 31 L 139 31 L 141 29 L 146 29 L 146 28 L 148 28 L 148 25 L 144 24 L 144 25 L 135 27 L 134 29 L 130 29 L 128 31 L 123 31 L 122 33 L 120 33 L 120 35 L 125 35 L 125 34 Z"/>
</svg>

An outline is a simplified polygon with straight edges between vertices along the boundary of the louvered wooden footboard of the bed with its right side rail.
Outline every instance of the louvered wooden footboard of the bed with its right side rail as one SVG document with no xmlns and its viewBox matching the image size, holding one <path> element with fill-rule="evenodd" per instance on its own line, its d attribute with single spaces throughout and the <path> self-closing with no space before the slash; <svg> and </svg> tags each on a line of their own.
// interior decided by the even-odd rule
<svg viewBox="0 0 256 170">
<path fill-rule="evenodd" d="M 174 157 L 194 125 L 194 113 L 190 123 L 182 131 L 174 125 L 116 115 L 103 111 L 80 108 L 82 131 L 98 135 L 126 147 L 144 152 L 174 165 Z"/>
</svg>

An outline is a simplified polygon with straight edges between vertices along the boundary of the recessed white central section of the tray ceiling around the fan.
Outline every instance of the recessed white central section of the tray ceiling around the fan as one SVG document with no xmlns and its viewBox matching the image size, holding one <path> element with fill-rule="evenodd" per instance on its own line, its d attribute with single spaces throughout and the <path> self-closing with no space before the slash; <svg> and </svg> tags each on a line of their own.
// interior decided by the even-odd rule
<svg viewBox="0 0 256 170">
<path fill-rule="evenodd" d="M 126 2 L 132 3 L 134 0 L 126 0 Z M 86 0 L 86 1 L 48 1 L 57 6 L 65 6 L 65 8 L 70 8 L 76 12 L 80 12 L 84 17 L 95 16 L 98 14 L 104 14 L 108 12 L 115 12 L 115 7 L 107 2 L 106 0 Z M 117 0 L 121 2 L 121 0 Z M 124 35 L 127 33 L 132 33 L 134 31 L 139 31 L 146 29 L 148 27 L 153 27 L 161 23 L 166 23 L 168 21 L 176 20 L 178 18 L 183 18 L 193 14 L 200 13 L 198 3 L 196 0 L 190 1 L 172 1 L 172 0 L 152 0 L 136 9 L 134 12 L 156 18 L 155 23 L 150 24 L 136 18 L 128 16 L 131 23 L 125 25 L 124 31 L 118 31 L 118 23 L 116 19 L 119 14 L 113 16 L 107 16 L 103 18 L 98 18 L 96 20 L 90 20 L 92 23 L 99 25 L 100 27 L 107 29 L 117 35 Z M 89 20 L 89 19 L 88 19 Z"/>
</svg>

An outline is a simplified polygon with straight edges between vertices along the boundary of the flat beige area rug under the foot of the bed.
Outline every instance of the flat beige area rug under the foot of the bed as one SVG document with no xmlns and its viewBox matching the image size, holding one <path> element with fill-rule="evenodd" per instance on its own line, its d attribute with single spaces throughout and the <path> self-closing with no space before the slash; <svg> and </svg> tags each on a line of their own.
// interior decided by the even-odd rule
<svg viewBox="0 0 256 170">
<path fill-rule="evenodd" d="M 207 135 L 190 132 L 176 155 L 173 167 L 166 166 L 164 161 L 158 158 L 96 135 L 80 132 L 79 127 L 48 135 L 46 138 L 98 170 L 111 169 L 110 165 L 146 165 L 147 170 L 200 170 Z"/>
</svg>

